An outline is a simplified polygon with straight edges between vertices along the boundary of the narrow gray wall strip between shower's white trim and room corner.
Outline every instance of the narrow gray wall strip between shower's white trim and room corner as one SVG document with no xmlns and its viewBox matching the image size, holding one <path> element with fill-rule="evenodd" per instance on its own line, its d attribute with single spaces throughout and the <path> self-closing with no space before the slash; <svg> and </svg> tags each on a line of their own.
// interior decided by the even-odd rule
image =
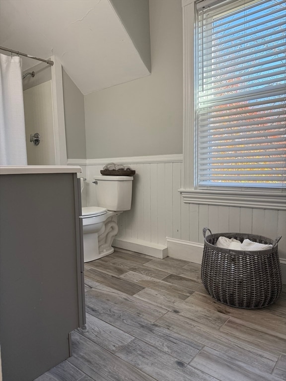
<svg viewBox="0 0 286 381">
<path fill-rule="evenodd" d="M 68 159 L 85 159 L 84 99 L 81 91 L 63 69 L 63 92 Z"/>
</svg>

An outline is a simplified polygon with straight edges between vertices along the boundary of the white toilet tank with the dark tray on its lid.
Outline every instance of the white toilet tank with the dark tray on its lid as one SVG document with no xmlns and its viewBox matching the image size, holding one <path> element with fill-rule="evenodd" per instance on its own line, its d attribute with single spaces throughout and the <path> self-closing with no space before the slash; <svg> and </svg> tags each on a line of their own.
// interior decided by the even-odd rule
<svg viewBox="0 0 286 381">
<path fill-rule="evenodd" d="M 119 211 L 131 209 L 132 176 L 94 176 L 98 206 Z"/>
</svg>

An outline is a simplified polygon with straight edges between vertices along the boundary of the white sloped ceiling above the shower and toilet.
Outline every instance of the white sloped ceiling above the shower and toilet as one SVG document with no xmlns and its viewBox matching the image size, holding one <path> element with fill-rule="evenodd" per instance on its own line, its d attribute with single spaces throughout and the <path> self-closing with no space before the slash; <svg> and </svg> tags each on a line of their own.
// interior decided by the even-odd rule
<svg viewBox="0 0 286 381">
<path fill-rule="evenodd" d="M 150 74 L 109 0 L 0 0 L 0 45 L 55 55 L 84 95 Z"/>
</svg>

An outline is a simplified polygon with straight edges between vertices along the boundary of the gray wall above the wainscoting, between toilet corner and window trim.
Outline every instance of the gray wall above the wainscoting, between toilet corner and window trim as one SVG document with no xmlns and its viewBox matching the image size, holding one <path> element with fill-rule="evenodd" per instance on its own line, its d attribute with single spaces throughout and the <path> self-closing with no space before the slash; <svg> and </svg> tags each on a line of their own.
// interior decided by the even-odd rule
<svg viewBox="0 0 286 381">
<path fill-rule="evenodd" d="M 84 96 L 87 159 L 182 153 L 181 1 L 149 11 L 151 75 Z"/>
</svg>

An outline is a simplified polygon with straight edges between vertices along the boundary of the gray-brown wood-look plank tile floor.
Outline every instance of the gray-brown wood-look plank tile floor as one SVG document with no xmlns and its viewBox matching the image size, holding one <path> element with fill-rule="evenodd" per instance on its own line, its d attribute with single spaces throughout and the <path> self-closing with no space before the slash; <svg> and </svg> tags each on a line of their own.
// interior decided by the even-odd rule
<svg viewBox="0 0 286 381">
<path fill-rule="evenodd" d="M 215 302 L 200 265 L 117 250 L 85 266 L 87 330 L 37 381 L 286 380 L 286 289 L 270 307 Z"/>
</svg>

